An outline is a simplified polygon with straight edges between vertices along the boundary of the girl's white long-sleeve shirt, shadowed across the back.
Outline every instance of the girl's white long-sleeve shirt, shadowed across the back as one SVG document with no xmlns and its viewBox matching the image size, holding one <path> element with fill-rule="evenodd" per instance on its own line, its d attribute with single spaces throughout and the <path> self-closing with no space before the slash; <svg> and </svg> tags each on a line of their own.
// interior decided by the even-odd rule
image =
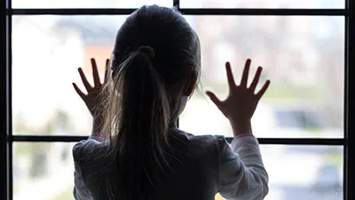
<svg viewBox="0 0 355 200">
<path fill-rule="evenodd" d="M 252 135 L 234 138 L 231 145 L 224 136 L 203 135 L 170 129 L 170 144 L 181 161 L 150 199 L 212 200 L 216 194 L 225 199 L 262 200 L 268 193 L 268 174 L 264 169 L 259 144 Z M 94 138 L 82 140 L 73 148 L 76 200 L 106 200 L 107 177 L 117 175 L 112 168 L 102 171 L 102 149 L 106 143 Z M 90 162 L 88 162 L 88 159 Z M 105 158 L 107 159 L 107 158 Z"/>
</svg>

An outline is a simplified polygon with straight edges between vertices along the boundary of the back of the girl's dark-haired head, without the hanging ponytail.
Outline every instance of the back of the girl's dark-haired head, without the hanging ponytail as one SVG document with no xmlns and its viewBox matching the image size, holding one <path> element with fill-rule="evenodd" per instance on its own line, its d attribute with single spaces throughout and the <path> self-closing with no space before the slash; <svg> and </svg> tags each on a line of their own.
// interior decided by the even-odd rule
<svg viewBox="0 0 355 200">
<path fill-rule="evenodd" d="M 141 46 L 154 50 L 154 57 L 137 53 Z M 144 54 L 144 53 L 143 53 Z M 117 33 L 112 70 L 118 72 L 131 57 L 144 57 L 162 78 L 175 120 L 193 93 L 201 73 L 200 43 L 182 15 L 170 8 L 144 6 L 125 21 Z M 147 67 L 146 67 L 147 68 Z M 137 73 L 143 71 L 137 70 Z M 139 75 L 133 76 L 136 81 Z"/>
</svg>

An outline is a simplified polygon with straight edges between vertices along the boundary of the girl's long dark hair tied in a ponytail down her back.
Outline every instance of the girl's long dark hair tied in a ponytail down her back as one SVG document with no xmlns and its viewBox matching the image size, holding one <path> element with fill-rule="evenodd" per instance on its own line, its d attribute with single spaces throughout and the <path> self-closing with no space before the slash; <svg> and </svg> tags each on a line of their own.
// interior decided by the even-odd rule
<svg viewBox="0 0 355 200">
<path fill-rule="evenodd" d="M 103 101 L 102 132 L 118 170 L 106 183 L 109 198 L 146 199 L 170 170 L 168 129 L 185 82 L 196 85 L 200 71 L 199 39 L 180 13 L 143 6 L 123 23 Z"/>
</svg>

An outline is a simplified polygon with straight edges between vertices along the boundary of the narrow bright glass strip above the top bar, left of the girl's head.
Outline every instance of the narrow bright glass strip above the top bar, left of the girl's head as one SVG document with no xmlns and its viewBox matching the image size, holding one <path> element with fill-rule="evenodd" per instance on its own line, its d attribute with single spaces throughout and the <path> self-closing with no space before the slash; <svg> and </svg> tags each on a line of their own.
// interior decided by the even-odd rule
<svg viewBox="0 0 355 200">
<path fill-rule="evenodd" d="M 12 8 L 138 8 L 144 4 L 172 7 L 172 0 L 12 0 Z"/>
</svg>

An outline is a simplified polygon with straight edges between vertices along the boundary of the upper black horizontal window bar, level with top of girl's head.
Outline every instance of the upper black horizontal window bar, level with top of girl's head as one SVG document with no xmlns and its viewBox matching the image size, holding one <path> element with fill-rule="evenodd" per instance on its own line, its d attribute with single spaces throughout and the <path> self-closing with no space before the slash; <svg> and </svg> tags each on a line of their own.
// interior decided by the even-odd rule
<svg viewBox="0 0 355 200">
<path fill-rule="evenodd" d="M 7 14 L 13 15 L 125 15 L 136 9 L 10 9 Z M 346 9 L 180 9 L 189 15 L 343 15 L 349 14 Z"/>
</svg>

